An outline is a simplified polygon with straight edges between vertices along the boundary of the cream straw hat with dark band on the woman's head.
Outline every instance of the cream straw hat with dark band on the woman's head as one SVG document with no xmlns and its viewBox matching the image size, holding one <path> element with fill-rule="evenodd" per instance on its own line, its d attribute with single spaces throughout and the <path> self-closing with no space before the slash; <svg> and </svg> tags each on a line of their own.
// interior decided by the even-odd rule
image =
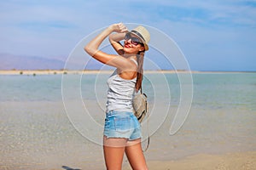
<svg viewBox="0 0 256 170">
<path fill-rule="evenodd" d="M 147 51 L 148 50 L 148 42 L 150 40 L 150 34 L 149 34 L 148 30 L 146 28 L 144 28 L 143 26 L 137 26 L 130 32 L 142 40 L 144 47 L 145 47 L 145 51 Z"/>
</svg>

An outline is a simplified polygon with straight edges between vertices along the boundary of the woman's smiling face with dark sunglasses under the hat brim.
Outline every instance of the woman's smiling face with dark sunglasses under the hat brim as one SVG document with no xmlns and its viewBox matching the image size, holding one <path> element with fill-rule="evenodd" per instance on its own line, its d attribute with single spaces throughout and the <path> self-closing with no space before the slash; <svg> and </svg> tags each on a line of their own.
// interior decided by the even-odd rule
<svg viewBox="0 0 256 170">
<path fill-rule="evenodd" d="M 131 34 L 127 33 L 125 35 L 125 42 L 124 42 L 124 51 L 128 54 L 138 54 L 139 51 L 143 51 L 144 47 L 140 39 Z"/>
</svg>

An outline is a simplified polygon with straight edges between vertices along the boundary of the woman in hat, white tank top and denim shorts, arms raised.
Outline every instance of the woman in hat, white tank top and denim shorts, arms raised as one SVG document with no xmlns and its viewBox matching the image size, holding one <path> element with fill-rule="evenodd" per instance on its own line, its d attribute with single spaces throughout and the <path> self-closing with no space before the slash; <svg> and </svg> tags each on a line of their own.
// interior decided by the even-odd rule
<svg viewBox="0 0 256 170">
<path fill-rule="evenodd" d="M 106 54 L 98 49 L 108 36 L 118 55 Z M 132 97 L 142 85 L 143 57 L 148 50 L 149 38 L 149 32 L 143 26 L 128 31 L 125 25 L 119 23 L 108 26 L 84 47 L 93 58 L 117 68 L 108 78 L 103 137 L 105 163 L 109 170 L 121 169 L 124 153 L 132 169 L 148 169 L 141 146 L 140 123 L 133 114 Z M 119 42 L 121 40 L 125 40 L 124 45 Z"/>
</svg>

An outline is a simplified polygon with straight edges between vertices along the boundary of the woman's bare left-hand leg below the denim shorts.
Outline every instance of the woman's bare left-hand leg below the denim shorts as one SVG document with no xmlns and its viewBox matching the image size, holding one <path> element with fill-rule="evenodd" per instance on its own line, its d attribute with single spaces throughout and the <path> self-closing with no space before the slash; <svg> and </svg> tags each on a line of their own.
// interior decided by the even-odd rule
<svg viewBox="0 0 256 170">
<path fill-rule="evenodd" d="M 103 150 L 106 167 L 108 170 L 122 169 L 127 139 L 107 138 L 103 139 Z"/>
</svg>

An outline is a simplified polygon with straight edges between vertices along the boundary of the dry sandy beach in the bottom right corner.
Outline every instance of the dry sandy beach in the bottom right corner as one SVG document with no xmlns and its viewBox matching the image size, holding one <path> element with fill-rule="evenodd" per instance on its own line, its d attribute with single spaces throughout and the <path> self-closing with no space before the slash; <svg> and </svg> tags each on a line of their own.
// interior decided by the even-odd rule
<svg viewBox="0 0 256 170">
<path fill-rule="evenodd" d="M 125 167 L 125 170 L 131 169 Z M 253 170 L 256 169 L 256 152 L 225 155 L 200 154 L 177 161 L 148 161 L 153 170 Z"/>
</svg>

